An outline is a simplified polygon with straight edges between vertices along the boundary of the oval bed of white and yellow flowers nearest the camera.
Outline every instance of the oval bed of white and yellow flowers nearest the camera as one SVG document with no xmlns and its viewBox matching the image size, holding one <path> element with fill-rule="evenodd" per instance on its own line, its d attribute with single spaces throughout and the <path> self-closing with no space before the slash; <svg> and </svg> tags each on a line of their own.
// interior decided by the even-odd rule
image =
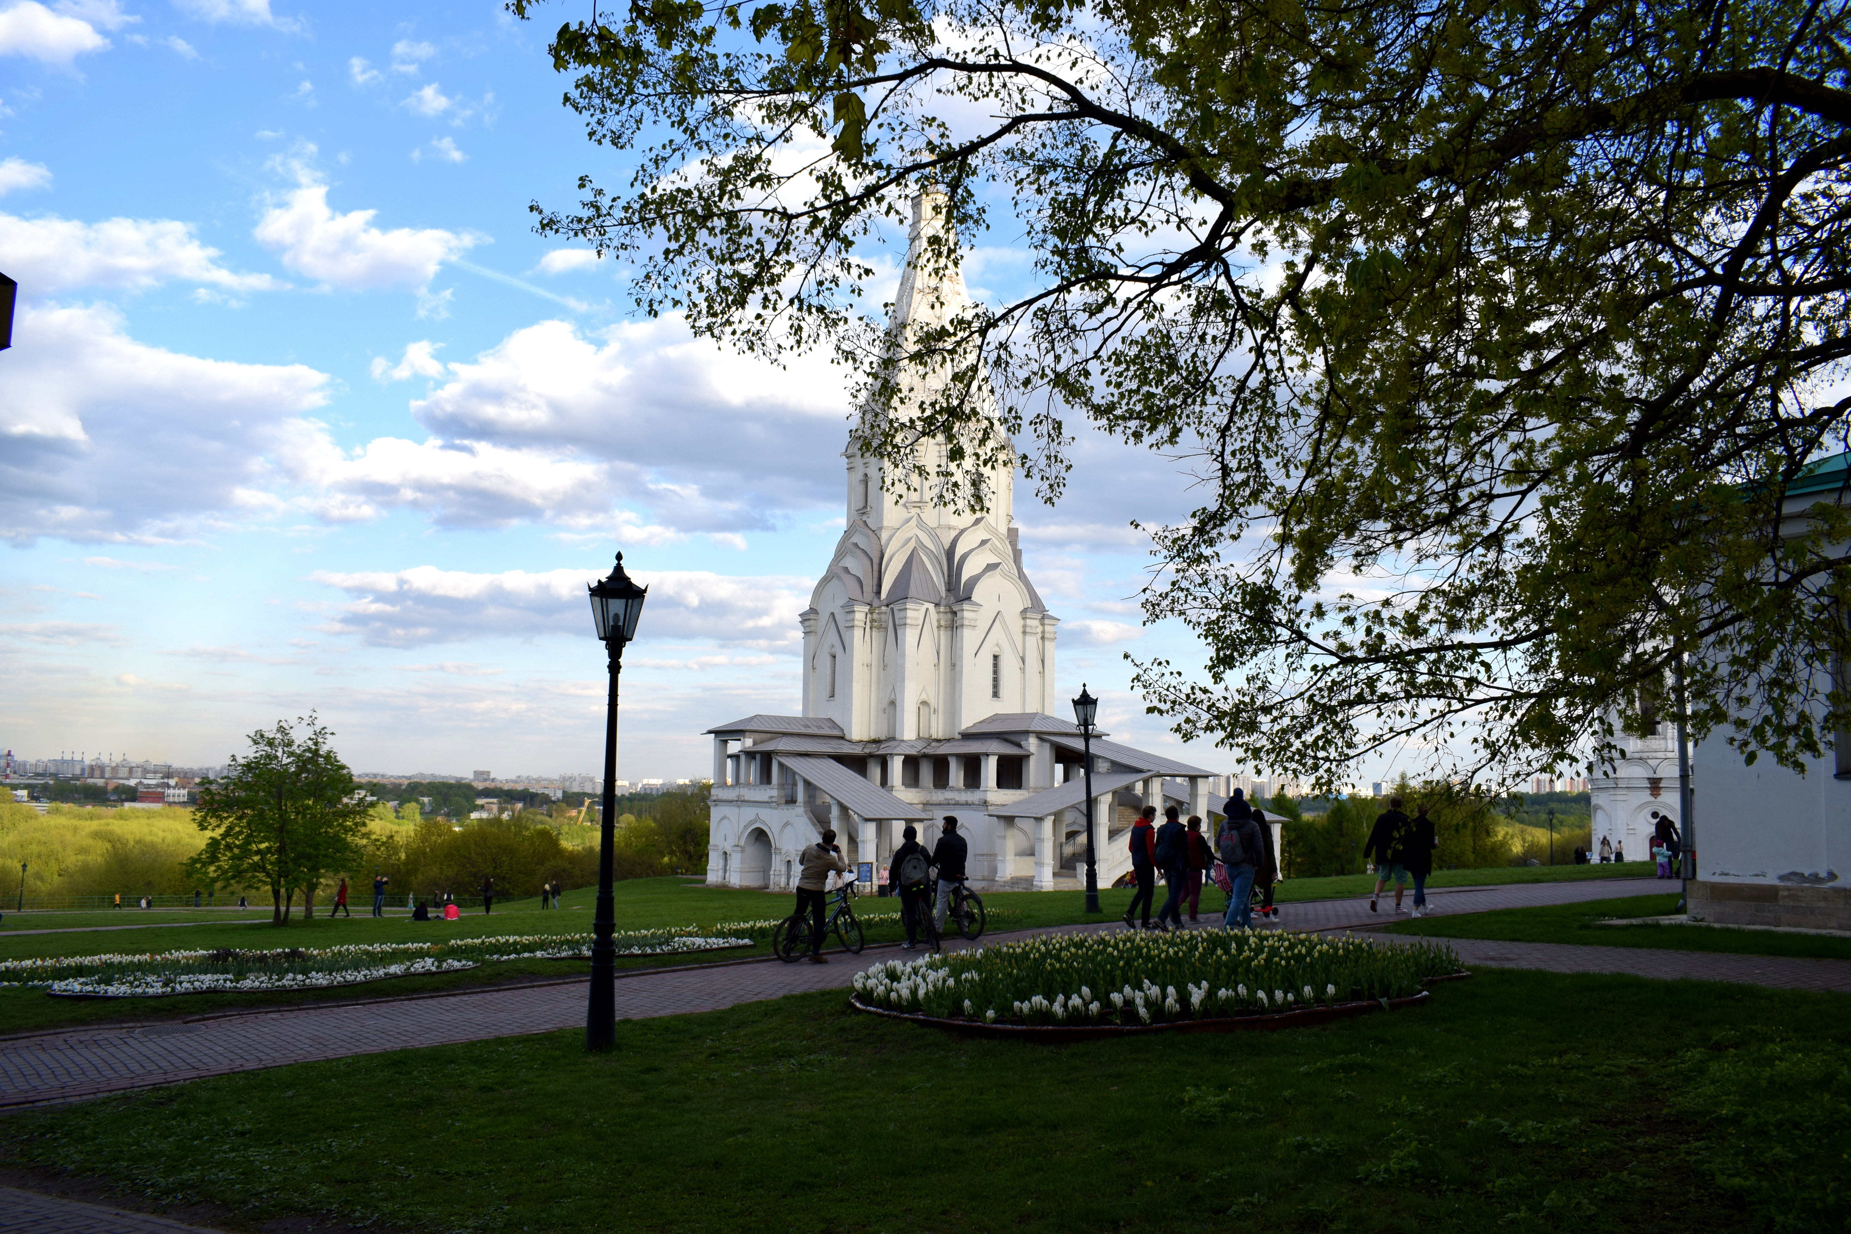
<svg viewBox="0 0 1851 1234">
<path fill-rule="evenodd" d="M 1444 944 L 1253 931 L 1050 934 L 888 960 L 855 975 L 868 1010 L 968 1025 L 1159 1027 L 1410 999 L 1459 971 Z"/>
</svg>

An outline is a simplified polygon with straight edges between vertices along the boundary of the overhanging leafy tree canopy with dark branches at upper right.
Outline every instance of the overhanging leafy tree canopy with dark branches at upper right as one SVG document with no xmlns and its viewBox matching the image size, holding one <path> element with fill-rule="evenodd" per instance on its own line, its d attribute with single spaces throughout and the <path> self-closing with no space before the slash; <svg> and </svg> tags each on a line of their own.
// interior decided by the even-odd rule
<svg viewBox="0 0 1851 1234">
<path fill-rule="evenodd" d="M 1390 744 L 1566 762 L 1701 649 L 1696 727 L 1749 714 L 1734 740 L 1795 762 L 1851 727 L 1812 672 L 1851 524 L 1779 518 L 1851 413 L 1844 28 L 1818 0 L 631 0 L 553 56 L 633 176 L 535 209 L 650 313 L 839 348 L 863 446 L 948 501 L 981 501 L 992 411 L 1046 496 L 1075 424 L 1188 457 L 1146 601 L 1207 673 L 1140 666 L 1186 736 L 1325 781 Z M 1035 285 L 883 339 L 868 246 L 926 185 Z M 907 366 L 953 379 L 898 420 Z"/>
</svg>

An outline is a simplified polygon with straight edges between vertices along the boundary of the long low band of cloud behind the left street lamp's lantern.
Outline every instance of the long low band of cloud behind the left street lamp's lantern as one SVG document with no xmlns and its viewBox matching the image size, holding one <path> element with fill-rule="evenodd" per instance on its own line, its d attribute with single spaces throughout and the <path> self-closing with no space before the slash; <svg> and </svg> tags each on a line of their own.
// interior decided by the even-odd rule
<svg viewBox="0 0 1851 1234">
<path fill-rule="evenodd" d="M 633 562 L 631 562 L 633 564 Z M 333 574 L 315 579 L 352 596 L 333 629 L 376 646 L 411 648 L 494 635 L 587 638 L 585 585 L 609 566 L 529 574 L 468 574 L 415 566 L 398 572 Z M 722 646 L 790 651 L 801 646 L 796 614 L 811 579 L 727 577 L 703 570 L 631 570 L 650 588 L 640 640 L 711 638 Z"/>
</svg>

